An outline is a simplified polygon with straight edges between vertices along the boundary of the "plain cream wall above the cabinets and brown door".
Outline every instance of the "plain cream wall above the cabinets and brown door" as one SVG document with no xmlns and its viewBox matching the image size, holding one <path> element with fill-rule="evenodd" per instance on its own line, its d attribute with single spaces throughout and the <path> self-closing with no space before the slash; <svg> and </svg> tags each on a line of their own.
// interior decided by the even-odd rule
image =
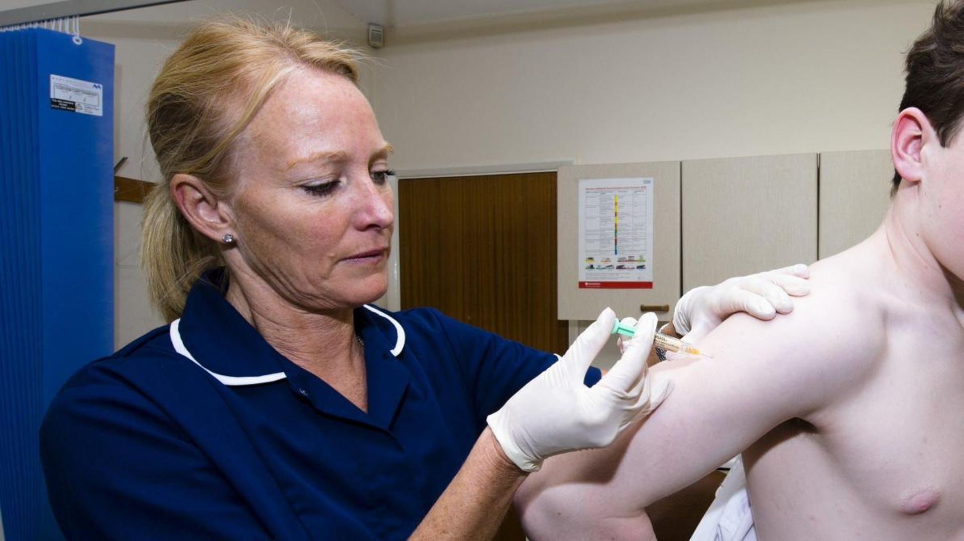
<svg viewBox="0 0 964 541">
<path fill-rule="evenodd" d="M 464 38 L 388 33 L 373 101 L 396 149 L 393 166 L 889 146 L 902 52 L 924 30 L 933 2 L 707 9 L 530 17 L 491 35 L 465 29 Z"/>
</svg>

